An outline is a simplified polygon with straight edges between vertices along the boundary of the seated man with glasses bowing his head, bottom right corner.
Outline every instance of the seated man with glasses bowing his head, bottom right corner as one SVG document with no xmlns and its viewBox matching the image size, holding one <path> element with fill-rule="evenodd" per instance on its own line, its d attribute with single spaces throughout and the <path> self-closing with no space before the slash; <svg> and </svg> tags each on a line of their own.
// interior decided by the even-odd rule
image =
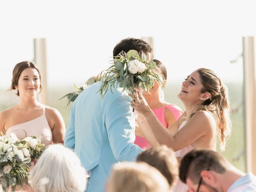
<svg viewBox="0 0 256 192">
<path fill-rule="evenodd" d="M 189 191 L 255 192 L 256 176 L 238 170 L 218 152 L 192 150 L 180 164 L 180 180 Z"/>
</svg>

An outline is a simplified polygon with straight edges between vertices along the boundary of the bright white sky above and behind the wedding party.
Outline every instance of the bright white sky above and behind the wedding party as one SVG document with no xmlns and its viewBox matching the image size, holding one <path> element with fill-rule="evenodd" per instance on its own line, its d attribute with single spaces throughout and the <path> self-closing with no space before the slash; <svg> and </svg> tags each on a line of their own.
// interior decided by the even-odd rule
<svg viewBox="0 0 256 192">
<path fill-rule="evenodd" d="M 47 39 L 49 86 L 78 85 L 108 66 L 117 42 L 153 37 L 168 82 L 193 70 L 242 80 L 242 37 L 256 37 L 254 0 L 0 1 L 0 88 L 15 64 L 33 60 L 33 39 Z"/>
</svg>

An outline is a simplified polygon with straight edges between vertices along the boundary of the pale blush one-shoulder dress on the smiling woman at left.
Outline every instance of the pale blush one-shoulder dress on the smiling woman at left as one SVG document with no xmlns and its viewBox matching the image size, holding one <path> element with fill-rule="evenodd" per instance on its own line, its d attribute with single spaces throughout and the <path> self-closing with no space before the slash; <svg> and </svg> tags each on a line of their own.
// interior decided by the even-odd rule
<svg viewBox="0 0 256 192">
<path fill-rule="evenodd" d="M 41 137 L 42 144 L 52 144 L 52 130 L 45 116 L 45 108 L 46 106 L 43 107 L 43 114 L 40 117 L 11 126 L 5 134 L 14 133 L 18 139 L 24 138 L 27 134 L 27 136 Z"/>
</svg>

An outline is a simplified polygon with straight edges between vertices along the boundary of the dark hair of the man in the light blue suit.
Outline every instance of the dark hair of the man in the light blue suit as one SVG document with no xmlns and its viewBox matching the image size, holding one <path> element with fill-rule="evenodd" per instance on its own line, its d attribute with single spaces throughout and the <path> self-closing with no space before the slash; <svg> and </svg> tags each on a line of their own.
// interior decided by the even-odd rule
<svg viewBox="0 0 256 192">
<path fill-rule="evenodd" d="M 136 50 L 138 52 L 152 53 L 153 48 L 146 41 L 136 38 L 126 38 L 121 40 L 113 50 L 113 56 L 117 56 L 120 52 L 128 52 L 129 50 Z"/>
</svg>

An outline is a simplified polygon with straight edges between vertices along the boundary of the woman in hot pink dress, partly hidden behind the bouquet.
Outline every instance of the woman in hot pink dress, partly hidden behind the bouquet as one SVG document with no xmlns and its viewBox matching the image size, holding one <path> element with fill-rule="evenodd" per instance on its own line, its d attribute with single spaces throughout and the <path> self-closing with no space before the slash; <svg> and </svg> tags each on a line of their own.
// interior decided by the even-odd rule
<svg viewBox="0 0 256 192">
<path fill-rule="evenodd" d="M 163 78 L 163 85 L 160 86 L 157 81 L 155 81 L 154 86 L 152 89 L 150 89 L 150 94 L 148 92 L 143 92 L 143 96 L 146 99 L 148 106 L 152 109 L 158 120 L 161 122 L 161 124 L 165 127 L 168 128 L 178 118 L 182 115 L 182 110 L 180 107 L 174 105 L 174 104 L 169 104 L 168 102 L 164 101 L 164 86 L 166 84 L 167 80 L 167 71 L 165 66 L 160 62 L 159 60 L 154 59 L 154 62 L 156 62 L 156 72 L 160 74 Z M 138 124 L 141 124 L 140 121 L 140 114 L 138 115 L 137 118 Z M 175 134 L 177 130 L 170 130 L 172 134 Z M 143 133 L 140 131 L 140 127 L 136 126 L 135 130 L 136 138 L 134 141 L 134 144 L 137 144 L 140 146 L 140 148 L 148 149 L 151 147 L 149 142 L 144 138 Z"/>
</svg>

